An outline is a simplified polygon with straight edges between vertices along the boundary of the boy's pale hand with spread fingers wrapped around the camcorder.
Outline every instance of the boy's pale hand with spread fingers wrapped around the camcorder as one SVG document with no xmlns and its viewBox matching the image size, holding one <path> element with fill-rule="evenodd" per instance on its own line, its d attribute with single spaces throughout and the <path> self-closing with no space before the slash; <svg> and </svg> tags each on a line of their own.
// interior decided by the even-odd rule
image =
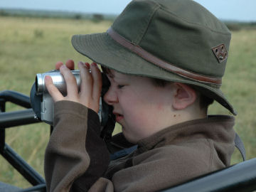
<svg viewBox="0 0 256 192">
<path fill-rule="evenodd" d="M 53 101 L 70 100 L 79 102 L 95 112 L 98 112 L 100 107 L 102 76 L 100 69 L 97 68 L 97 64 L 92 63 L 90 65 L 89 63 L 78 63 L 81 78 L 80 92 L 78 92 L 78 85 L 75 77 L 70 71 L 74 69 L 73 60 L 68 60 L 66 65 L 58 62 L 56 63 L 55 68 L 60 70 L 60 73 L 65 79 L 68 95 L 63 97 L 55 85 L 53 85 L 53 80 L 50 76 L 46 76 L 46 87 L 51 97 L 53 97 Z M 89 73 L 89 70 L 91 70 L 91 73 Z"/>
</svg>

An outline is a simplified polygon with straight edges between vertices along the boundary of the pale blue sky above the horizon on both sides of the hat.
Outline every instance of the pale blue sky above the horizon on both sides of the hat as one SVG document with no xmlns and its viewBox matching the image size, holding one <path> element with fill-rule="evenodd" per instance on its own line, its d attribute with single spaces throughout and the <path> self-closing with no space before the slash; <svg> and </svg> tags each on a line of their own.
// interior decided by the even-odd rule
<svg viewBox="0 0 256 192">
<path fill-rule="evenodd" d="M 120 14 L 130 0 L 0 0 L 1 8 Z M 256 21 L 256 0 L 195 0 L 224 20 Z"/>
</svg>

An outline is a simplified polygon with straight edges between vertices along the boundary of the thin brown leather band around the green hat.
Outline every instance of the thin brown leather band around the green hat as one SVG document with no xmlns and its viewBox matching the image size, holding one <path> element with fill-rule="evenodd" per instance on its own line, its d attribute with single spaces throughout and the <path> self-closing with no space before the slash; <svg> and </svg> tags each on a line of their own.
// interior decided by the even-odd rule
<svg viewBox="0 0 256 192">
<path fill-rule="evenodd" d="M 200 81 L 200 82 L 215 83 L 217 85 L 221 85 L 221 83 L 222 83 L 221 78 L 210 78 L 210 77 L 207 77 L 204 75 L 199 75 L 197 73 L 192 73 L 188 70 L 183 70 L 182 68 L 178 68 L 174 64 L 167 63 L 164 60 L 156 58 L 156 56 L 147 52 L 140 46 L 136 46 L 136 45 L 134 45 L 134 43 L 132 43 L 132 42 L 128 41 L 126 38 L 120 36 L 111 27 L 107 30 L 107 33 L 110 35 L 110 37 L 112 39 L 114 39 L 114 41 L 116 41 L 120 45 L 124 46 L 125 48 L 128 48 L 133 53 L 136 53 L 137 55 L 139 55 L 142 58 L 144 58 L 145 60 L 153 63 L 154 65 L 159 66 L 160 68 L 164 68 L 165 70 L 168 70 L 172 73 L 176 73 L 177 75 L 181 75 L 185 78 L 189 78 L 189 79 Z"/>
</svg>

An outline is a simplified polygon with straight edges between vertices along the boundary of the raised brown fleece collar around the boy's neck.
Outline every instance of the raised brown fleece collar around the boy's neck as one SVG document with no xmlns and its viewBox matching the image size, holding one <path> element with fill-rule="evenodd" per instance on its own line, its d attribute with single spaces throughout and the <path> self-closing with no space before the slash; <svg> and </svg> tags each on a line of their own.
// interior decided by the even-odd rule
<svg viewBox="0 0 256 192">
<path fill-rule="evenodd" d="M 233 143 L 235 139 L 234 124 L 235 118 L 228 115 L 210 115 L 204 119 L 175 124 L 140 140 L 136 154 L 166 144 L 178 144 L 193 139 L 213 139 L 217 142 Z"/>
</svg>

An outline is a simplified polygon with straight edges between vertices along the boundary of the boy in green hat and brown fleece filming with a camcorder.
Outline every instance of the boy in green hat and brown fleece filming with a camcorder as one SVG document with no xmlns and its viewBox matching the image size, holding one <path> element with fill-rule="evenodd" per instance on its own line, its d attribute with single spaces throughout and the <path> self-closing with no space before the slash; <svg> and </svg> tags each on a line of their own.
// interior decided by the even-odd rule
<svg viewBox="0 0 256 192">
<path fill-rule="evenodd" d="M 190 0 L 135 0 L 106 33 L 73 36 L 72 43 L 95 63 L 78 63 L 80 92 L 73 60 L 57 63 L 66 97 L 46 77 L 55 101 L 48 191 L 159 191 L 230 165 L 234 118 L 207 116 L 213 100 L 235 114 L 220 91 L 230 32 L 206 9 Z M 111 162 L 99 137 L 96 63 L 111 82 L 105 102 L 138 145 Z"/>
</svg>

